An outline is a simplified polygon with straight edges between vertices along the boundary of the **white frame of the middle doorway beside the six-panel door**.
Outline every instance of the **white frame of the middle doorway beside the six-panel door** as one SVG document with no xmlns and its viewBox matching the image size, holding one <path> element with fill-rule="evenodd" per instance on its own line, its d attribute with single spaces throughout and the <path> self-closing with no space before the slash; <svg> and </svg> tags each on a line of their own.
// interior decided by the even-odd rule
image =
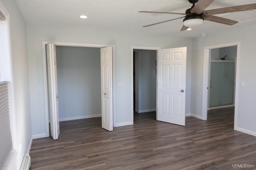
<svg viewBox="0 0 256 170">
<path fill-rule="evenodd" d="M 132 98 L 132 102 L 131 102 L 131 125 L 133 125 L 133 122 L 134 122 L 134 120 L 133 120 L 133 115 L 134 115 L 134 111 L 133 111 L 133 50 L 134 49 L 138 49 L 138 50 L 159 50 L 159 49 L 161 49 L 160 47 L 146 47 L 146 46 L 132 46 L 132 48 L 131 48 L 131 86 L 132 86 L 132 88 L 131 88 L 131 98 Z"/>
</svg>

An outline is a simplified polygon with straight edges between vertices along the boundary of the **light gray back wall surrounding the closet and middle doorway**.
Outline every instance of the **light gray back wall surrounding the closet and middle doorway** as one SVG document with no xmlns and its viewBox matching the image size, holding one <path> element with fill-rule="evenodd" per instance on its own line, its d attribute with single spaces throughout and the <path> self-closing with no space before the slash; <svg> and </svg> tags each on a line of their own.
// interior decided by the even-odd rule
<svg viewBox="0 0 256 170">
<path fill-rule="evenodd" d="M 115 45 L 115 82 L 116 93 L 113 96 L 116 101 L 114 110 L 115 126 L 132 123 L 133 118 L 133 92 L 132 92 L 132 46 L 148 46 L 174 48 L 187 48 L 187 76 L 186 76 L 186 113 L 190 113 L 190 80 L 191 80 L 191 51 L 192 39 L 167 36 L 142 35 L 137 33 L 120 33 L 86 27 L 32 25 L 27 24 L 28 33 L 28 58 L 30 86 L 40 85 L 43 87 L 43 63 L 42 41 L 61 41 L 76 43 L 96 43 Z M 124 82 L 124 87 L 118 83 Z M 42 88 L 43 89 L 43 88 Z M 36 91 L 30 88 L 31 112 L 33 135 L 46 134 L 44 91 Z"/>
</svg>

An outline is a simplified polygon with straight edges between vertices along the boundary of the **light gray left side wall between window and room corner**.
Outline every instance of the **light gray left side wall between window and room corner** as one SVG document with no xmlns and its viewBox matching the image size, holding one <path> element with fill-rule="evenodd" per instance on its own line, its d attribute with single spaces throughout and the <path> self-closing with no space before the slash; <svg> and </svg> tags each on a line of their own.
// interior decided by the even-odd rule
<svg viewBox="0 0 256 170">
<path fill-rule="evenodd" d="M 2 4 L 4 4 L 10 14 L 10 42 L 16 113 L 16 146 L 18 147 L 16 148 L 18 153 L 14 157 L 11 169 L 20 169 L 24 153 L 28 152 L 30 142 L 32 141 L 29 88 L 35 90 L 36 86 L 29 86 L 26 23 L 14 0 L 2 0 Z M 37 95 L 37 92 L 35 91 L 35 95 Z M 34 104 L 37 106 L 37 103 Z M 37 113 L 34 114 L 36 115 Z"/>
</svg>

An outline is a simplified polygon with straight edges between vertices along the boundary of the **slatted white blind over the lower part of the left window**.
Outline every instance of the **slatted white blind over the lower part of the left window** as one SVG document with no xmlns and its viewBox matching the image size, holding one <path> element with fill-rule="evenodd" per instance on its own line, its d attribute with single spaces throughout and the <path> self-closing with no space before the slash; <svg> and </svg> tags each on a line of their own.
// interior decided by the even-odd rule
<svg viewBox="0 0 256 170">
<path fill-rule="evenodd" d="M 0 82 L 0 169 L 12 151 L 8 82 Z"/>
</svg>

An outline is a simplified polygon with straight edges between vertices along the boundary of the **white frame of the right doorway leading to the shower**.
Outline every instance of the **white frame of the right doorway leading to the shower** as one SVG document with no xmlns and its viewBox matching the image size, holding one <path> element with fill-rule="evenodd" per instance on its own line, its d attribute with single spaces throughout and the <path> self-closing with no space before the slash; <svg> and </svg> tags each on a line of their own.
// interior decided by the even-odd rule
<svg viewBox="0 0 256 170">
<path fill-rule="evenodd" d="M 236 82 L 235 82 L 235 115 L 234 115 L 234 129 L 236 129 L 236 112 L 237 112 L 237 103 L 238 103 L 238 72 L 239 72 L 239 49 L 240 42 L 214 45 L 209 47 L 204 47 L 204 70 L 203 70 L 203 96 L 202 96 L 202 119 L 207 120 L 207 111 L 208 111 L 208 79 L 209 79 L 209 58 L 210 58 L 210 49 L 222 48 L 237 46 L 236 54 Z"/>
</svg>

